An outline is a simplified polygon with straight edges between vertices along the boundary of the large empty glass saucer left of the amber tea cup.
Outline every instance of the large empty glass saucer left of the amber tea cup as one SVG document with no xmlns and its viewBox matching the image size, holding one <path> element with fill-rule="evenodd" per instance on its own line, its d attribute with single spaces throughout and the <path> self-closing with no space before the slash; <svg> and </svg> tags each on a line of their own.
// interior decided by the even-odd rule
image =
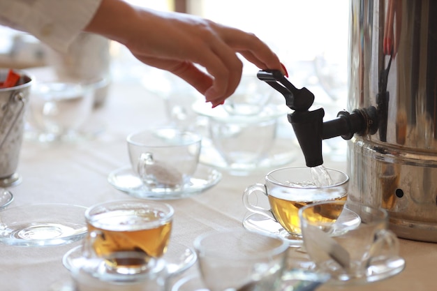
<svg viewBox="0 0 437 291">
<path fill-rule="evenodd" d="M 59 246 L 87 233 L 87 208 L 70 204 L 29 204 L 0 212 L 0 243 L 11 246 Z"/>
</svg>

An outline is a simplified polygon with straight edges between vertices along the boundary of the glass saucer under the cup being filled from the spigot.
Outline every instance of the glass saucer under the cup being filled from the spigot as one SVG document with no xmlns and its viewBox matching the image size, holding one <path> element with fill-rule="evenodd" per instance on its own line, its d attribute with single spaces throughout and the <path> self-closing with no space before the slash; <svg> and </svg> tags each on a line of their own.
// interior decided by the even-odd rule
<svg viewBox="0 0 437 291">
<path fill-rule="evenodd" d="M 345 230 L 350 230 L 357 225 L 360 225 L 360 216 L 355 214 L 355 212 L 349 209 L 343 209 L 341 216 L 334 223 L 335 227 L 332 227 L 334 233 L 343 232 Z M 274 221 L 272 218 L 267 218 L 261 214 L 250 213 L 243 219 L 243 227 L 246 230 L 251 230 L 255 232 L 263 232 L 267 234 L 275 234 L 282 239 L 289 242 L 290 246 L 302 246 L 302 237 L 293 236 L 288 233 L 281 224 Z"/>
</svg>

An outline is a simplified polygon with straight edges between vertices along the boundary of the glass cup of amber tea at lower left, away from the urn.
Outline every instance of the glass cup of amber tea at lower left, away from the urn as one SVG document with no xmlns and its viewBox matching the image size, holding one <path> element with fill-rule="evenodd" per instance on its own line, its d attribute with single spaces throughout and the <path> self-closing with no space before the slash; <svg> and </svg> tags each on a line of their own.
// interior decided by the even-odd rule
<svg viewBox="0 0 437 291">
<path fill-rule="evenodd" d="M 174 209 L 162 202 L 114 201 L 87 209 L 88 258 L 105 258 L 106 267 L 121 274 L 148 269 L 167 250 Z M 124 253 L 122 260 L 119 253 Z M 126 254 L 131 253 L 131 257 Z M 141 257 L 138 254 L 142 255 Z"/>
</svg>

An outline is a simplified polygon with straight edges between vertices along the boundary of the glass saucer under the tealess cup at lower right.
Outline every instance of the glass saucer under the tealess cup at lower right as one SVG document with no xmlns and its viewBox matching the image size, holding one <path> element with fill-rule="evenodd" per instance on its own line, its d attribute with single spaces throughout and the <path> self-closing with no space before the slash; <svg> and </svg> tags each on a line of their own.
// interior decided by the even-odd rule
<svg viewBox="0 0 437 291">
<path fill-rule="evenodd" d="M 354 278 L 348 281 L 340 281 L 336 278 L 331 278 L 327 282 L 327 285 L 344 286 L 344 285 L 364 285 L 381 281 L 386 278 L 390 278 L 403 271 L 405 268 L 405 260 L 398 255 L 390 258 L 380 258 L 378 260 L 372 260 L 367 267 L 369 274 L 362 278 Z"/>
</svg>

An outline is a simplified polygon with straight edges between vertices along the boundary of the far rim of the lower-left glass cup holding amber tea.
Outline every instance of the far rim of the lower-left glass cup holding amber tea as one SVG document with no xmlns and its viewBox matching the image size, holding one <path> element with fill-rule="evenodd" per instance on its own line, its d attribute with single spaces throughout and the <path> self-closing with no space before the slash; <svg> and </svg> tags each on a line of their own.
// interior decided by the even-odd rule
<svg viewBox="0 0 437 291">
<path fill-rule="evenodd" d="M 98 209 L 99 207 L 105 207 L 105 206 L 110 206 L 113 205 L 114 209 L 116 209 L 117 205 L 120 204 L 138 204 L 138 205 L 153 205 L 154 207 L 149 207 L 149 208 L 156 208 L 156 207 L 164 207 L 168 210 L 168 212 L 165 213 L 165 216 L 161 217 L 159 219 L 159 221 L 170 221 L 172 219 L 172 217 L 175 215 L 175 209 L 168 203 L 165 202 L 158 202 L 158 201 L 151 201 L 151 200 L 112 200 L 112 201 L 106 201 L 106 202 L 100 202 L 100 203 L 96 203 L 94 205 L 91 205 L 91 207 L 88 207 L 85 210 L 84 216 L 86 221 L 88 221 L 89 223 L 92 224 L 92 222 L 94 221 L 92 216 L 96 215 L 96 214 L 101 214 L 104 213 L 105 211 L 99 211 L 96 214 L 91 214 L 91 211 L 94 211 L 96 209 Z M 103 208 L 106 209 L 106 208 Z M 112 210 L 114 210 L 112 209 Z"/>
</svg>

